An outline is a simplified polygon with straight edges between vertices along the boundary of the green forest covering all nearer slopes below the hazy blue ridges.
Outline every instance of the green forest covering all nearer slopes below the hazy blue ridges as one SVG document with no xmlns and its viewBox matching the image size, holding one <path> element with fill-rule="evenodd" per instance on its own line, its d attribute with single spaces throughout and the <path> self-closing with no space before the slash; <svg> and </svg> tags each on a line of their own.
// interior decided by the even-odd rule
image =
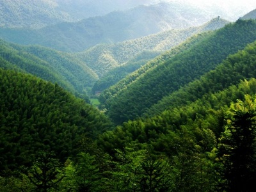
<svg viewBox="0 0 256 192">
<path fill-rule="evenodd" d="M 0 40 L 0 192 L 252 191 L 255 36 L 239 19 L 156 58 L 166 42 L 70 54 Z M 91 89 L 104 92 L 88 104 Z"/>
</svg>

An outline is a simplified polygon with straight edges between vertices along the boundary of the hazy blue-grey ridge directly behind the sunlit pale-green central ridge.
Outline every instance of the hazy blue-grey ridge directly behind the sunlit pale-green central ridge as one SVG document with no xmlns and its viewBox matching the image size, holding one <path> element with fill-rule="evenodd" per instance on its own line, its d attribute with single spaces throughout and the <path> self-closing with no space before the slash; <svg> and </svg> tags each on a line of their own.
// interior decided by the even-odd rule
<svg viewBox="0 0 256 192">
<path fill-rule="evenodd" d="M 195 6 L 159 3 L 38 30 L 1 28 L 0 38 L 19 44 L 39 44 L 76 52 L 93 45 L 122 42 L 166 29 L 199 26 L 209 19 L 204 10 Z"/>
</svg>

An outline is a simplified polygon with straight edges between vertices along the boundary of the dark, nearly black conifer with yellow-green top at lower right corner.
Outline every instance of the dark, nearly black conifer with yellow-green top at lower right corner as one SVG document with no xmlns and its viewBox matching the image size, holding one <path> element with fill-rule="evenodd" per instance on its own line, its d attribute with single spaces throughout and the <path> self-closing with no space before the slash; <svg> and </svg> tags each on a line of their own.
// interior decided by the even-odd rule
<svg viewBox="0 0 256 192">
<path fill-rule="evenodd" d="M 245 96 L 230 107 L 230 118 L 218 146 L 223 163 L 221 184 L 227 191 L 251 191 L 256 180 L 256 99 Z"/>
</svg>

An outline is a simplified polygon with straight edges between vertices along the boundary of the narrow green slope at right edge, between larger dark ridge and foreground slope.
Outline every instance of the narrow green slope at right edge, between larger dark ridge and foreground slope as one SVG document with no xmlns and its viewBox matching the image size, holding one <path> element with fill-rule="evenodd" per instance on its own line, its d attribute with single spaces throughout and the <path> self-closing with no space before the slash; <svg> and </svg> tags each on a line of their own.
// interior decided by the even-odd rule
<svg viewBox="0 0 256 192">
<path fill-rule="evenodd" d="M 214 70 L 207 72 L 204 76 L 200 77 L 200 79 L 187 84 L 177 92 L 173 92 L 171 95 L 159 100 L 159 102 L 148 109 L 144 115 L 155 116 L 165 110 L 185 106 L 198 98 L 202 98 L 204 94 L 218 92 L 228 88 L 232 84 L 238 84 L 244 79 L 255 77 L 255 52 L 256 42 L 248 44 L 243 51 L 228 56 L 228 58 L 220 63 Z M 243 95 L 237 93 L 237 97 L 243 97 Z M 232 100 L 234 100 L 234 98 L 232 98 Z M 211 103 L 211 108 L 216 109 L 214 103 Z"/>
</svg>

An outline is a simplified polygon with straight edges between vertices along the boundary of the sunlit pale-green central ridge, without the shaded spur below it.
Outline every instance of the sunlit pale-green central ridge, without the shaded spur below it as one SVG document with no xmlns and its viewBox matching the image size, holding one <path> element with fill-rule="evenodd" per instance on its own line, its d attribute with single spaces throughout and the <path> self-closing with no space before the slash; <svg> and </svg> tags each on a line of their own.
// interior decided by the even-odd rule
<svg viewBox="0 0 256 192">
<path fill-rule="evenodd" d="M 118 44 L 99 44 L 84 52 L 77 53 L 76 56 L 101 77 L 111 68 L 124 64 L 143 51 L 166 51 L 179 45 L 192 35 L 220 29 L 227 23 L 227 20 L 216 18 L 195 28 L 172 29 Z"/>
</svg>

